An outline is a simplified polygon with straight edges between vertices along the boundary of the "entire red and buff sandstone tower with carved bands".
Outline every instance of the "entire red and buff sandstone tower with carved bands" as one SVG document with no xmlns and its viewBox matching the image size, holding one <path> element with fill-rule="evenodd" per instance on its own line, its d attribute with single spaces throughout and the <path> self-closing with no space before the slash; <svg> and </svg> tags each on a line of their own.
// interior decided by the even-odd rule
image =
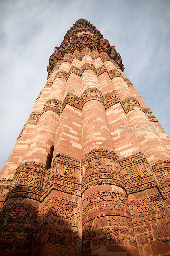
<svg viewBox="0 0 170 256">
<path fill-rule="evenodd" d="M 0 177 L 0 255 L 170 255 L 170 139 L 80 19 Z"/>
</svg>

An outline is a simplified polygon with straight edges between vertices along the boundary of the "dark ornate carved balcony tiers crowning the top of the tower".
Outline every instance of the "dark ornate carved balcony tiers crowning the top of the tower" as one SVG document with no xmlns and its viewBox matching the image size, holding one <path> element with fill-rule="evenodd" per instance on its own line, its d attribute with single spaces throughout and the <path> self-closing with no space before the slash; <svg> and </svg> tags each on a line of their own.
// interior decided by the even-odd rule
<svg viewBox="0 0 170 256">
<path fill-rule="evenodd" d="M 124 70 L 121 56 L 116 52 L 115 46 L 110 46 L 107 39 L 103 38 L 100 31 L 89 21 L 79 19 L 67 31 L 60 47 L 55 47 L 55 52 L 50 56 L 47 67 L 48 77 L 57 63 L 61 63 L 65 53 L 70 52 L 73 54 L 75 50 L 81 53 L 81 50 L 85 47 L 90 48 L 92 51 L 97 50 L 99 53 L 106 52 L 109 59 L 113 59 L 121 70 Z"/>
</svg>

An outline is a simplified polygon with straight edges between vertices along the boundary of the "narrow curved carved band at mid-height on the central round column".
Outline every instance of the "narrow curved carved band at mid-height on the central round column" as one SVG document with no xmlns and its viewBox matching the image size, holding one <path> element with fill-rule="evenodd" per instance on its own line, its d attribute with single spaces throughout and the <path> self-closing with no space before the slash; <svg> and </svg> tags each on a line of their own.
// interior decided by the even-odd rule
<svg viewBox="0 0 170 256">
<path fill-rule="evenodd" d="M 97 88 L 86 89 L 81 95 L 82 107 L 89 100 L 99 100 L 104 104 L 102 93 Z"/>
</svg>

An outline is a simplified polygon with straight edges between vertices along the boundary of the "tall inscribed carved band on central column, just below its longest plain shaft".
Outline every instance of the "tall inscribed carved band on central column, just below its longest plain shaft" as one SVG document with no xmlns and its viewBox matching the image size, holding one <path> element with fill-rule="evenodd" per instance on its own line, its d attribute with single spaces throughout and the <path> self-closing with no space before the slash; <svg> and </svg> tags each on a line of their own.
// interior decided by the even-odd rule
<svg viewBox="0 0 170 256">
<path fill-rule="evenodd" d="M 125 188 L 120 162 L 111 150 L 95 149 L 82 158 L 82 192 L 94 185 L 111 184 Z"/>
</svg>

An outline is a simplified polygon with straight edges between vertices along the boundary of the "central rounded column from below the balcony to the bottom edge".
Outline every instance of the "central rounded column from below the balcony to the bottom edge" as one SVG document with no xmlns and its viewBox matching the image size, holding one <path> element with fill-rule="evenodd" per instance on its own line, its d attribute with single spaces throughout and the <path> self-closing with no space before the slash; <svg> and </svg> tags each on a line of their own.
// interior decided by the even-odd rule
<svg viewBox="0 0 170 256">
<path fill-rule="evenodd" d="M 126 255 L 130 250 L 138 255 L 120 162 L 89 48 L 82 50 L 82 112 L 83 252 Z"/>
</svg>

